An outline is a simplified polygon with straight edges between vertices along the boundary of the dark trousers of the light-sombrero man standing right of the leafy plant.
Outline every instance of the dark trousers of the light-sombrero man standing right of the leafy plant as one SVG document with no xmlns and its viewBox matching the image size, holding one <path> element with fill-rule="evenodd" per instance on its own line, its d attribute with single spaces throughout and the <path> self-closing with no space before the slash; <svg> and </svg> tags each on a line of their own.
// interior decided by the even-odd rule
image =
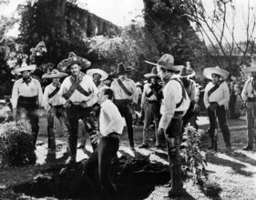
<svg viewBox="0 0 256 200">
<path fill-rule="evenodd" d="M 210 120 L 210 128 L 208 130 L 208 134 L 210 135 L 211 141 L 213 141 L 216 128 L 215 111 L 212 111 L 210 110 L 210 108 L 208 108 L 208 115 Z M 224 142 L 226 143 L 226 145 L 230 145 L 230 130 L 226 122 L 226 111 L 224 105 L 216 107 L 216 115 L 218 117 L 220 130 L 222 132 Z"/>
</svg>

